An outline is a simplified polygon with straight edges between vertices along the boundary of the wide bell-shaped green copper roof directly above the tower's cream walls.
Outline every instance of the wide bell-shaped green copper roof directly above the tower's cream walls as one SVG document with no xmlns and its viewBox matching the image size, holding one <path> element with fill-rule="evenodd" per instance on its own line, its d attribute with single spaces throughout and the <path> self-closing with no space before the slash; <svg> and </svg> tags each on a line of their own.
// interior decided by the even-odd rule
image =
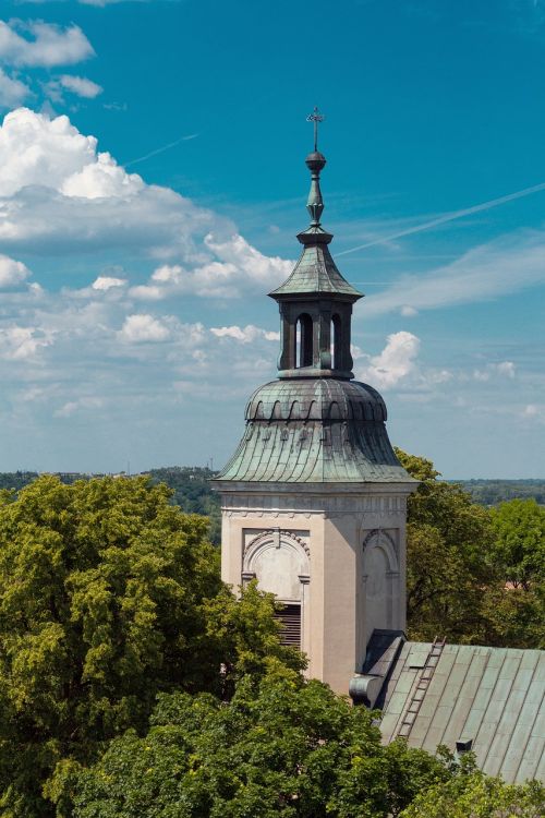
<svg viewBox="0 0 545 818">
<path fill-rule="evenodd" d="M 399 464 L 386 407 L 370 386 L 290 378 L 259 387 L 246 431 L 219 481 L 416 483 Z"/>
</svg>

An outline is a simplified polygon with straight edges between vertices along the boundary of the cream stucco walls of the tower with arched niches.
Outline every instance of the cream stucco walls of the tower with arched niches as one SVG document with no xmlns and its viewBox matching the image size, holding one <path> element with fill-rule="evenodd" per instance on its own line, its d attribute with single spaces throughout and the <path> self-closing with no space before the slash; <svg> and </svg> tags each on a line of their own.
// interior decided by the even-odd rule
<svg viewBox="0 0 545 818">
<path fill-rule="evenodd" d="M 308 675 L 348 694 L 374 627 L 405 626 L 412 484 L 222 485 L 221 572 L 301 601 Z"/>
</svg>

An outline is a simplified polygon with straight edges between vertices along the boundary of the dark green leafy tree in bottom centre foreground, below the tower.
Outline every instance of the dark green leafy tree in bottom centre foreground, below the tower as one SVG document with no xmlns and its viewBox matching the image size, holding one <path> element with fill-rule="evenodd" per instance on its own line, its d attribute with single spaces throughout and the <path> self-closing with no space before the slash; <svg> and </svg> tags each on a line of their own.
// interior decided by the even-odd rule
<svg viewBox="0 0 545 818">
<path fill-rule="evenodd" d="M 372 714 L 292 675 L 239 683 L 226 706 L 160 696 L 149 733 L 116 739 L 65 789 L 74 818 L 386 818 L 449 777 Z"/>
</svg>

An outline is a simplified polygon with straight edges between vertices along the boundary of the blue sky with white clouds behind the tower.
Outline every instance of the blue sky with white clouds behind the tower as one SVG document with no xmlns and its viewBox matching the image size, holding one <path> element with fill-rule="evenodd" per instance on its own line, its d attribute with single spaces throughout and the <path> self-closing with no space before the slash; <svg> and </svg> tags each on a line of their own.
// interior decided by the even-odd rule
<svg viewBox="0 0 545 818">
<path fill-rule="evenodd" d="M 0 469 L 230 456 L 319 105 L 390 438 L 545 476 L 545 189 L 494 204 L 545 182 L 545 2 L 4 0 L 0 104 Z"/>
</svg>

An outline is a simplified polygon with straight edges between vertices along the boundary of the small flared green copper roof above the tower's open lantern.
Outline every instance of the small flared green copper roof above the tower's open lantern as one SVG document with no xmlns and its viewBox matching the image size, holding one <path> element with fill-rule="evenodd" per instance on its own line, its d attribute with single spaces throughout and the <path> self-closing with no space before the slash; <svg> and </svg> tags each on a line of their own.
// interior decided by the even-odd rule
<svg viewBox="0 0 545 818">
<path fill-rule="evenodd" d="M 316 293 L 350 296 L 354 300 L 362 298 L 362 293 L 352 287 L 337 269 L 326 243 L 305 245 L 291 276 L 269 294 L 276 298 L 277 296 Z"/>
</svg>

